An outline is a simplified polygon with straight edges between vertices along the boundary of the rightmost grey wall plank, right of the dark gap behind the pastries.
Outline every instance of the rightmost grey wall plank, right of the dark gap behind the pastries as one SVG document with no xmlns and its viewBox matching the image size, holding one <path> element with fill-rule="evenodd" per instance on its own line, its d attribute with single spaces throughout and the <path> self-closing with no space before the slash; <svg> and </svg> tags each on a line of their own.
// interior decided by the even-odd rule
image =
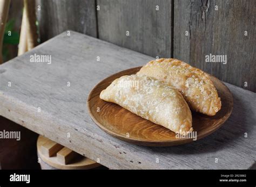
<svg viewBox="0 0 256 187">
<path fill-rule="evenodd" d="M 256 92 L 255 6 L 253 0 L 174 0 L 173 57 Z M 227 64 L 205 62 L 210 53 L 227 55 Z"/>
</svg>

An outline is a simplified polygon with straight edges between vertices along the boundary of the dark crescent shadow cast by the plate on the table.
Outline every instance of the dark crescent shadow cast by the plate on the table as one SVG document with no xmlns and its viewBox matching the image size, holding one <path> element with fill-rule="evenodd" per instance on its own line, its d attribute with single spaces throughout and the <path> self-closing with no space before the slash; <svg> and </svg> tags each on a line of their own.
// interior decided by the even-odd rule
<svg viewBox="0 0 256 187">
<path fill-rule="evenodd" d="M 216 152 L 230 146 L 231 143 L 250 130 L 246 124 L 246 113 L 248 112 L 245 104 L 239 97 L 233 95 L 234 108 L 230 118 L 225 124 L 213 134 L 206 136 L 203 139 L 187 143 L 185 145 L 173 147 L 151 147 L 153 152 L 158 153 L 173 153 L 173 154 L 201 154 Z"/>
</svg>

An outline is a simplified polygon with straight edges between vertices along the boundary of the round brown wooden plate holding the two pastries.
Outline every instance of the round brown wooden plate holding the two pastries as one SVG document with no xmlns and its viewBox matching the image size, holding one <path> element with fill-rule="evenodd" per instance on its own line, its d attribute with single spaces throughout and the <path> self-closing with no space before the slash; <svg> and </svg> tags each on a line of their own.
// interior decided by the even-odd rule
<svg viewBox="0 0 256 187">
<path fill-rule="evenodd" d="M 192 142 L 193 138 L 176 138 L 176 134 L 167 128 L 143 119 L 123 107 L 105 102 L 99 93 L 110 83 L 123 75 L 136 74 L 141 67 L 127 69 L 113 74 L 99 82 L 87 98 L 87 108 L 92 120 L 106 133 L 127 142 L 143 146 L 176 146 Z M 192 112 L 193 129 L 197 140 L 216 131 L 230 116 L 233 109 L 233 97 L 230 90 L 218 78 L 211 76 L 218 95 L 221 98 L 221 110 L 215 116 L 206 116 Z"/>
</svg>

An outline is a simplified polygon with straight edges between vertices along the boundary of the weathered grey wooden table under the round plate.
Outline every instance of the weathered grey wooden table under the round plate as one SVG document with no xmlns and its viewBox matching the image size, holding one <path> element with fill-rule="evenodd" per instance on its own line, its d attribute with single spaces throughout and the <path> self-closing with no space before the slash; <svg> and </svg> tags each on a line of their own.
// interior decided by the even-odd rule
<svg viewBox="0 0 256 187">
<path fill-rule="evenodd" d="M 30 62 L 35 54 L 51 55 L 51 64 Z M 111 169 L 251 168 L 256 93 L 231 84 L 226 83 L 234 98 L 231 117 L 218 131 L 187 145 L 131 145 L 93 123 L 86 99 L 95 84 L 152 59 L 87 35 L 62 33 L 0 66 L 0 115 Z"/>
</svg>

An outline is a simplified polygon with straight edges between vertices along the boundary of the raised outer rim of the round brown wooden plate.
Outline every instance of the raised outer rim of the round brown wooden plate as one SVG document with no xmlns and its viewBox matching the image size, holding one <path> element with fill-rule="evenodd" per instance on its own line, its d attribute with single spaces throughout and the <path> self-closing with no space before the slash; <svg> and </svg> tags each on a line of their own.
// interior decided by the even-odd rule
<svg viewBox="0 0 256 187">
<path fill-rule="evenodd" d="M 136 144 L 136 145 L 142 145 L 142 146 L 147 146 L 147 147 L 169 147 L 169 146 L 176 146 L 176 145 L 181 145 L 181 144 L 185 144 L 185 143 L 190 143 L 190 142 L 193 142 L 193 138 L 182 138 L 182 139 L 172 139 L 172 140 L 138 140 L 138 139 L 134 139 L 134 138 L 127 138 L 126 136 L 122 135 L 122 134 L 117 134 L 115 132 L 112 132 L 112 130 L 110 130 L 109 128 L 106 128 L 104 125 L 102 125 L 96 118 L 95 116 L 93 116 L 92 112 L 91 112 L 91 108 L 90 108 L 90 101 L 91 99 L 93 98 L 92 97 L 92 94 L 93 94 L 93 91 L 103 82 L 105 82 L 108 78 L 116 75 L 116 74 L 122 74 L 122 73 L 125 73 L 126 71 L 131 71 L 131 70 L 139 70 L 140 68 L 142 68 L 142 66 L 139 66 L 139 67 L 134 67 L 134 68 L 129 68 L 129 69 L 125 69 L 125 70 L 122 70 L 122 71 L 118 71 L 117 73 L 114 73 L 110 76 L 107 76 L 105 77 L 103 80 L 99 81 L 95 87 L 93 87 L 89 93 L 89 95 L 87 96 L 87 100 L 86 100 L 86 106 L 87 106 L 87 111 L 89 112 L 89 116 L 91 117 L 91 119 L 93 120 L 93 122 L 101 129 L 103 130 L 104 132 L 106 132 L 107 134 L 110 134 L 111 136 L 113 136 L 114 138 L 117 138 L 119 140 L 122 140 L 122 141 L 126 141 L 126 142 L 129 142 L 129 143 L 133 143 L 133 144 Z M 127 74 L 127 75 L 130 75 L 130 74 Z M 131 74 L 132 75 L 132 74 Z M 210 75 L 210 74 L 208 74 Z M 123 75 L 122 75 L 123 76 Z M 224 85 L 224 87 L 228 90 L 228 92 L 230 93 L 231 95 L 231 110 L 230 112 L 227 113 L 227 116 L 225 116 L 225 119 L 223 121 L 221 121 L 220 123 L 217 123 L 217 127 L 215 127 L 213 130 L 210 130 L 206 133 L 203 133 L 203 134 L 200 134 L 199 136 L 197 135 L 197 140 L 199 139 L 202 139 L 202 138 L 205 138 L 206 136 L 214 133 L 215 131 L 217 131 L 221 126 L 224 125 L 224 123 L 226 122 L 226 120 L 228 118 L 230 118 L 230 115 L 231 113 L 233 112 L 233 105 L 234 105 L 234 102 L 233 102 L 233 95 L 232 95 L 232 92 L 230 91 L 230 89 L 228 89 L 228 87 L 222 82 L 220 81 L 217 77 L 215 76 L 212 76 L 210 75 L 211 77 L 215 78 L 217 81 L 219 81 L 222 85 Z M 196 141 L 197 141 L 196 140 Z M 175 145 L 172 145 L 172 143 L 176 143 Z M 149 143 L 152 143 L 152 145 L 149 145 Z M 147 144 L 147 145 L 145 145 Z"/>
</svg>

